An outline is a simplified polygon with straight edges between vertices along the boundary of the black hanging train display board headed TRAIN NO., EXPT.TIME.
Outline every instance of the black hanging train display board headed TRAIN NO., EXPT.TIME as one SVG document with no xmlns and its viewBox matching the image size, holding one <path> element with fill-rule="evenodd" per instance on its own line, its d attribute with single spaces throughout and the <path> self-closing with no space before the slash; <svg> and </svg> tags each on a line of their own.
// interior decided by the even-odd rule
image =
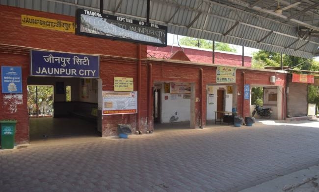
<svg viewBox="0 0 319 192">
<path fill-rule="evenodd" d="M 76 34 L 166 46 L 167 27 L 120 16 L 78 9 Z"/>
</svg>

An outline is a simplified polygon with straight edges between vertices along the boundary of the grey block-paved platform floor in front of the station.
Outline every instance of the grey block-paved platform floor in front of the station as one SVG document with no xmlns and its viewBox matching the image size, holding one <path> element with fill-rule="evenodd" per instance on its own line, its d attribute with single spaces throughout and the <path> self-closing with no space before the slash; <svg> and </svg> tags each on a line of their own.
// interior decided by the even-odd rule
<svg viewBox="0 0 319 192">
<path fill-rule="evenodd" d="M 48 140 L 0 150 L 0 189 L 238 192 L 319 164 L 318 122 L 265 123 L 155 131 L 129 139 Z"/>
</svg>

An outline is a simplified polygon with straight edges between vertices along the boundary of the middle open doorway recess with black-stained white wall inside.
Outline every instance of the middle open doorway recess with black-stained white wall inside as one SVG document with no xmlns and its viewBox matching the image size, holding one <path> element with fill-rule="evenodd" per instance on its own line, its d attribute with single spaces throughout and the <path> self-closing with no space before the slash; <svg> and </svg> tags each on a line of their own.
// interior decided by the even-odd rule
<svg viewBox="0 0 319 192">
<path fill-rule="evenodd" d="M 185 82 L 158 82 L 153 85 L 155 131 L 195 127 L 193 86 Z"/>
</svg>

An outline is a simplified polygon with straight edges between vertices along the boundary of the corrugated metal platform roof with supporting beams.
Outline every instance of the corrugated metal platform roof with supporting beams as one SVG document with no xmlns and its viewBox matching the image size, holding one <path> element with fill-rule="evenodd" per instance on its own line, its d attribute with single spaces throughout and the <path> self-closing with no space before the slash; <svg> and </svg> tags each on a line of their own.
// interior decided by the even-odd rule
<svg viewBox="0 0 319 192">
<path fill-rule="evenodd" d="M 282 14 L 274 12 L 278 2 Z M 77 8 L 100 10 L 100 0 L 0 0 L 0 4 L 69 16 L 75 16 Z M 107 14 L 146 21 L 147 0 L 104 0 L 103 8 Z M 319 0 L 150 0 L 150 21 L 177 35 L 303 58 L 319 56 Z"/>
</svg>

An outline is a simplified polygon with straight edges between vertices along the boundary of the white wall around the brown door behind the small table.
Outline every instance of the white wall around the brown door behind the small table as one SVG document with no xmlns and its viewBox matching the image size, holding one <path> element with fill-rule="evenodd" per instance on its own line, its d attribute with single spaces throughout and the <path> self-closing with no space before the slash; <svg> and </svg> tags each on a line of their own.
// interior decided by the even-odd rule
<svg viewBox="0 0 319 192">
<path fill-rule="evenodd" d="M 207 92 L 206 100 L 206 119 L 212 120 L 215 119 L 215 111 L 217 110 L 217 90 L 225 89 L 225 111 L 232 111 L 233 108 L 233 93 L 227 94 L 227 85 L 213 85 L 213 104 L 209 104 L 209 95 Z M 206 88 L 207 89 L 207 88 Z M 234 87 L 233 87 L 234 91 Z"/>
</svg>

